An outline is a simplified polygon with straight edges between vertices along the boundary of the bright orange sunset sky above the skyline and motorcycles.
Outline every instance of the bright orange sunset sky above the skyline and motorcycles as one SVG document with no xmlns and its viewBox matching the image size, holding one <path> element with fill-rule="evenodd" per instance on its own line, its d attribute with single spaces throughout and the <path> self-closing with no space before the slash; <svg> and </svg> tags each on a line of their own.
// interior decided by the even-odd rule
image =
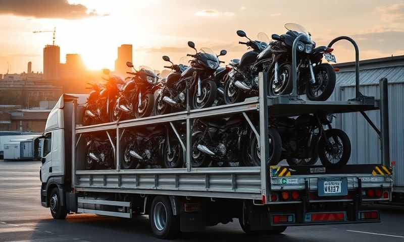
<svg viewBox="0 0 404 242">
<path fill-rule="evenodd" d="M 236 35 L 244 30 L 251 39 L 285 32 L 285 23 L 298 23 L 311 32 L 317 46 L 346 35 L 360 48 L 360 59 L 404 54 L 404 1 L 270 1 L 270 0 L 0 0 L 0 73 L 41 72 L 43 47 L 61 47 L 81 54 L 88 69 L 114 69 L 117 47 L 133 45 L 133 64 L 162 70 L 163 55 L 174 63 L 208 47 L 228 62 L 246 52 L 245 41 Z M 348 42 L 334 45 L 338 62 L 354 61 Z"/>
</svg>

